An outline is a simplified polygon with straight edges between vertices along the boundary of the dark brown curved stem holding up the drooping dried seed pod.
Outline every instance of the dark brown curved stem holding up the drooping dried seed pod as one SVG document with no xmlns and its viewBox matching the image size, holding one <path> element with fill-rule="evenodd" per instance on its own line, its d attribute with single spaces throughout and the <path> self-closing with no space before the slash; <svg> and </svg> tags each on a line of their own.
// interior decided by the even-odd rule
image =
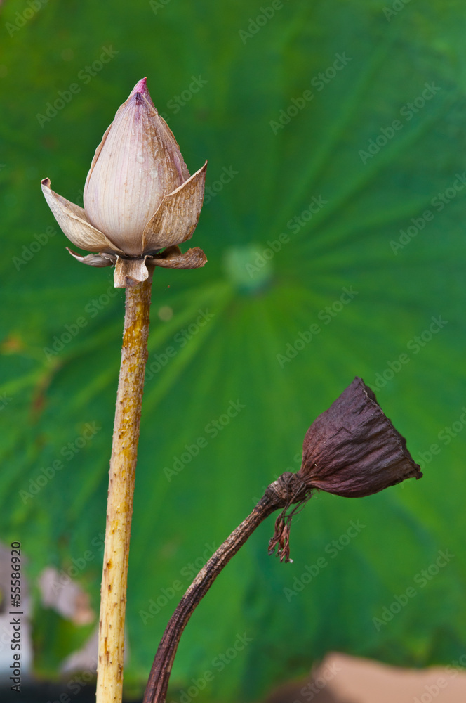
<svg viewBox="0 0 466 703">
<path fill-rule="evenodd" d="M 173 659 L 175 659 L 182 632 L 192 616 L 194 608 L 198 605 L 201 598 L 204 598 L 204 595 L 206 595 L 223 567 L 227 565 L 239 548 L 244 545 L 256 527 L 274 510 L 284 507 L 283 497 L 277 494 L 273 486 L 274 484 L 267 488 L 264 497 L 255 506 L 251 515 L 248 515 L 246 520 L 241 522 L 239 527 L 230 534 L 211 556 L 180 600 L 178 607 L 166 626 L 164 636 L 155 655 L 143 703 L 165 703 Z"/>
</svg>

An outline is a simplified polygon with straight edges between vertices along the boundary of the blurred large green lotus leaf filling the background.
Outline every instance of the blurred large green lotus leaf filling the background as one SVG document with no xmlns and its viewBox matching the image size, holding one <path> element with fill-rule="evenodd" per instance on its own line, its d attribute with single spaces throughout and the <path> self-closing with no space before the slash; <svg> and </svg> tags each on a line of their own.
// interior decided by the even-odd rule
<svg viewBox="0 0 466 703">
<path fill-rule="evenodd" d="M 401 666 L 457 659 L 464 4 L 6 0 L 0 12 L 0 527 L 28 557 L 36 672 L 57 676 L 95 628 L 96 618 L 76 626 L 44 610 L 34 583 L 47 565 L 81 565 L 72 573 L 98 611 L 124 311 L 112 269 L 67 254 L 39 181 L 82 204 L 94 150 L 146 75 L 190 172 L 208 159 L 192 239 L 208 264 L 154 276 L 128 690 L 147 679 L 176 588 L 269 482 L 298 469 L 307 427 L 354 375 L 425 477 L 370 498 L 315 496 L 293 523 L 293 564 L 267 555 L 269 518 L 187 626 L 173 697 L 211 670 L 199 700 L 258 699 L 329 650 Z M 79 447 L 86 423 L 98 429 Z M 63 469 L 38 483 L 56 460 Z M 347 539 L 358 520 L 364 529 Z M 439 550 L 454 557 L 436 569 Z M 306 583 L 319 557 L 326 567 Z M 388 621 L 410 587 L 415 597 Z M 232 657 L 244 633 L 251 642 Z"/>
</svg>

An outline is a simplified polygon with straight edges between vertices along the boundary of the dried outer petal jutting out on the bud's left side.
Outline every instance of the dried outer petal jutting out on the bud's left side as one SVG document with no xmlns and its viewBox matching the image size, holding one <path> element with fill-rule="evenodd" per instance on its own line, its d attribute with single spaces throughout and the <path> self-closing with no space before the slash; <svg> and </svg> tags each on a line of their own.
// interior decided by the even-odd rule
<svg viewBox="0 0 466 703">
<path fill-rule="evenodd" d="M 50 179 L 45 178 L 41 181 L 41 186 L 53 217 L 65 236 L 76 247 L 81 247 L 87 252 L 123 253 L 102 232 L 91 225 L 82 207 L 52 191 Z"/>
</svg>

